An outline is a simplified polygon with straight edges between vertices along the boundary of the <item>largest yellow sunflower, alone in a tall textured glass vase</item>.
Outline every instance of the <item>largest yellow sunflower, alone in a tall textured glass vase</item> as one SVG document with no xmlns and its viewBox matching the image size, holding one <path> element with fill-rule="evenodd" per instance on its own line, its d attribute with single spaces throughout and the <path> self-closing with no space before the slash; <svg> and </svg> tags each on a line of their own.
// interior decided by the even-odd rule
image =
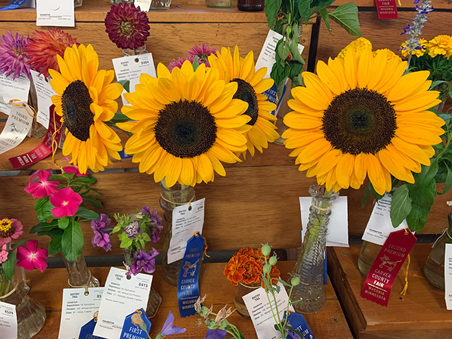
<svg viewBox="0 0 452 339">
<path fill-rule="evenodd" d="M 444 133 L 444 121 L 427 111 L 440 103 L 439 92 L 429 91 L 428 71 L 403 75 L 407 62 L 358 53 L 319 61 L 318 75 L 303 73 L 306 87 L 292 90 L 294 111 L 284 118 L 290 128 L 282 137 L 299 171 L 328 190 L 360 188 L 368 175 L 384 194 L 391 175 L 414 183 L 412 172 L 430 164 L 431 146 Z"/>
</svg>

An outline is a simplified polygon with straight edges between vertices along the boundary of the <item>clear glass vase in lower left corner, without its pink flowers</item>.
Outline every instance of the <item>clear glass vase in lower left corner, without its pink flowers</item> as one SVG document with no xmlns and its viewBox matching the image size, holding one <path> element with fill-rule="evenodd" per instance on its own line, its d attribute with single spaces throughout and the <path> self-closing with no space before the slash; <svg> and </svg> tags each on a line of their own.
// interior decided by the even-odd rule
<svg viewBox="0 0 452 339">
<path fill-rule="evenodd" d="M 32 338 L 42 329 L 46 319 L 44 306 L 23 291 L 16 277 L 8 280 L 3 271 L 0 272 L 0 295 L 1 302 L 16 305 L 18 339 Z M 1 331 L 0 338 L 3 338 Z"/>
</svg>

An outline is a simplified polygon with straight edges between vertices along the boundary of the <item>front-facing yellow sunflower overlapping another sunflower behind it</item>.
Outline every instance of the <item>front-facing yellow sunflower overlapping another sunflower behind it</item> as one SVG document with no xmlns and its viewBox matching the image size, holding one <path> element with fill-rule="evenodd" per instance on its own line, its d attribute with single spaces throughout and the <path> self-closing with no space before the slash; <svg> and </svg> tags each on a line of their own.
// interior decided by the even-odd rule
<svg viewBox="0 0 452 339">
<path fill-rule="evenodd" d="M 242 115 L 247 103 L 233 99 L 238 84 L 225 84 L 205 64 L 193 71 L 189 61 L 171 73 L 158 64 L 157 76 L 142 74 L 135 92 L 125 94 L 131 106 L 122 112 L 134 120 L 118 124 L 133 134 L 125 152 L 140 172 L 153 173 L 156 182 L 165 178 L 168 187 L 225 175 L 220 161 L 240 161 L 234 153 L 247 149 L 244 133 L 251 128 Z"/>
</svg>

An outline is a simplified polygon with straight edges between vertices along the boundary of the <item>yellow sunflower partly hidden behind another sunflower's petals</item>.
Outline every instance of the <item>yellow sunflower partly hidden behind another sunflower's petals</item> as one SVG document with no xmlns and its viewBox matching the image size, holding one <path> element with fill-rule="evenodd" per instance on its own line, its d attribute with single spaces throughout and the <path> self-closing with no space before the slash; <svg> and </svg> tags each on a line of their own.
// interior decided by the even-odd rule
<svg viewBox="0 0 452 339">
<path fill-rule="evenodd" d="M 276 109 L 276 105 L 267 100 L 263 94 L 273 86 L 273 79 L 263 79 L 267 68 L 260 68 L 255 71 L 253 52 L 249 52 L 246 58 L 240 58 L 238 47 L 234 49 L 234 57 L 229 48 L 223 47 L 216 55 L 208 57 L 212 67 L 218 68 L 220 78 L 227 83 L 236 82 L 238 89 L 234 99 L 240 99 L 248 103 L 248 109 L 244 114 L 251 116 L 248 125 L 251 125 L 247 133 L 247 149 L 251 156 L 255 153 L 255 148 L 262 153 L 268 147 L 268 142 L 273 142 L 279 138 L 276 126 L 272 121 L 276 117 L 270 112 Z M 246 150 L 243 152 L 246 155 Z"/>
</svg>

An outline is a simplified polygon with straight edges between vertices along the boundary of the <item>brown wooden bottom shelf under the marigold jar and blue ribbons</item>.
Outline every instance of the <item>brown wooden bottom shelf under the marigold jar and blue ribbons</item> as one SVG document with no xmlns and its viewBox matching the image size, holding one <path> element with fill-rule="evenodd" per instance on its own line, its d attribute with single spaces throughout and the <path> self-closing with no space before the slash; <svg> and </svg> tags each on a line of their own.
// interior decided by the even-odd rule
<svg viewBox="0 0 452 339">
<path fill-rule="evenodd" d="M 288 272 L 292 271 L 294 262 L 279 262 L 277 264 L 283 279 L 287 279 Z M 225 264 L 205 264 L 205 273 L 200 281 L 201 295 L 208 294 L 204 305 L 214 305 L 214 311 L 221 309 L 225 304 L 233 305 L 232 286 L 226 277 L 223 275 Z M 101 286 L 105 284 L 110 268 L 108 267 L 93 267 L 90 268 L 92 275 L 97 277 L 101 282 Z M 177 334 L 171 338 L 179 339 L 200 339 L 205 337 L 206 328 L 204 326 L 194 325 L 195 321 L 199 320 L 199 316 L 190 316 L 187 318 L 179 317 L 179 309 L 177 306 L 177 291 L 173 286 L 166 284 L 161 278 L 161 266 L 157 267 L 154 273 L 152 282 L 153 288 L 162 296 L 162 305 L 158 310 L 158 314 L 151 318 L 153 336 L 162 329 L 166 316 L 171 310 L 175 316 L 174 325 L 184 327 L 187 329 L 184 334 Z M 30 297 L 36 299 L 46 308 L 47 320 L 44 328 L 33 338 L 34 339 L 53 339 L 58 338 L 58 331 L 60 328 L 61 318 L 61 303 L 62 303 L 62 289 L 67 288 L 67 273 L 64 268 L 53 268 L 44 271 L 44 273 L 32 272 L 27 274 L 29 277 Z M 48 281 L 52 281 L 49 286 Z M 349 326 L 345 321 L 344 314 L 340 308 L 338 299 L 331 286 L 331 281 L 325 286 L 325 293 L 327 295 L 327 302 L 325 307 L 317 314 L 306 314 L 305 318 L 312 333 L 316 338 L 330 338 L 330 339 L 352 339 Z M 253 324 L 251 320 L 245 319 L 237 312 L 234 312 L 228 321 L 236 327 L 244 337 L 247 339 L 256 339 Z"/>
</svg>

